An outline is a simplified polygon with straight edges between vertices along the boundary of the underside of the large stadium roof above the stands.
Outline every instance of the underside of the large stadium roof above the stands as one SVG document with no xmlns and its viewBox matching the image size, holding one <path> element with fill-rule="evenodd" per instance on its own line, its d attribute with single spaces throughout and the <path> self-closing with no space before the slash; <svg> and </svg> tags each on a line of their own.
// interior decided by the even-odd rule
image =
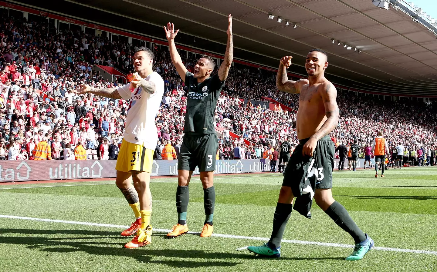
<svg viewBox="0 0 437 272">
<path fill-rule="evenodd" d="M 348 87 L 385 94 L 437 95 L 436 34 L 399 7 L 380 9 L 371 0 L 65 2 L 156 26 L 171 21 L 182 33 L 221 44 L 226 40 L 227 14 L 232 13 L 234 46 L 262 55 L 262 64 L 277 66 L 279 58 L 291 54 L 291 71 L 305 75 L 307 52 L 321 48 L 329 56 L 327 78 L 334 82 L 344 79 Z M 62 12 L 68 14 L 66 9 Z"/>
</svg>

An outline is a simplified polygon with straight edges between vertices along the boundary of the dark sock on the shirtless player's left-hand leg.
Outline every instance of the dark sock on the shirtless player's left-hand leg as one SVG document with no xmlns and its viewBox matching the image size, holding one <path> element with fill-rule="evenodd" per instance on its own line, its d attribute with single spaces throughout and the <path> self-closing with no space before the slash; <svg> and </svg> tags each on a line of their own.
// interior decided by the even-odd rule
<svg viewBox="0 0 437 272">
<path fill-rule="evenodd" d="M 268 245 L 272 248 L 281 246 L 282 236 L 284 235 L 285 226 L 290 219 L 293 204 L 277 203 L 273 216 L 273 230 Z"/>
</svg>

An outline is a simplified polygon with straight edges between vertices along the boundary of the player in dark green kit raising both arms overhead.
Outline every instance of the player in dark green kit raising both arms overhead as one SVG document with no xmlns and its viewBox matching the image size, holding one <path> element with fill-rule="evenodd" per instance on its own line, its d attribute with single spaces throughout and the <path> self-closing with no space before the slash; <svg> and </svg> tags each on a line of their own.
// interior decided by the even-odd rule
<svg viewBox="0 0 437 272">
<path fill-rule="evenodd" d="M 185 113 L 184 139 L 180 146 L 178 157 L 178 185 L 176 190 L 176 208 L 178 222 L 172 231 L 167 234 L 168 238 L 174 238 L 188 232 L 187 207 L 189 201 L 188 184 L 191 174 L 199 167 L 200 180 L 203 186 L 203 200 L 205 207 L 205 222 L 201 231 L 201 237 L 212 235 L 212 219 L 214 215 L 215 189 L 213 173 L 215 170 L 215 156 L 218 149 L 217 136 L 215 135 L 214 115 L 217 99 L 225 85 L 229 69 L 232 65 L 232 15 L 228 16 L 228 40 L 225 58 L 214 71 L 215 61 L 211 57 L 202 56 L 194 66 L 194 74 L 187 71 L 179 53 L 177 52 L 174 38 L 179 30 L 175 30 L 173 24 L 168 23 L 164 27 L 170 49 L 170 57 L 177 73 L 188 87 L 187 112 Z"/>
</svg>

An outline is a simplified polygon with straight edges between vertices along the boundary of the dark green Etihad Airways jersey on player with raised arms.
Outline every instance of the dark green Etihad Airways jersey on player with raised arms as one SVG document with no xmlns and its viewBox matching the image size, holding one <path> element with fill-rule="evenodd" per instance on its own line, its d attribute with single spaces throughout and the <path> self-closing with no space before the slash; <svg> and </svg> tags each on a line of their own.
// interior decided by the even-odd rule
<svg viewBox="0 0 437 272">
<path fill-rule="evenodd" d="M 215 108 L 225 81 L 220 81 L 218 75 L 215 74 L 204 82 L 198 83 L 197 78 L 187 71 L 185 84 L 188 90 L 184 133 L 199 135 L 215 133 Z"/>
</svg>

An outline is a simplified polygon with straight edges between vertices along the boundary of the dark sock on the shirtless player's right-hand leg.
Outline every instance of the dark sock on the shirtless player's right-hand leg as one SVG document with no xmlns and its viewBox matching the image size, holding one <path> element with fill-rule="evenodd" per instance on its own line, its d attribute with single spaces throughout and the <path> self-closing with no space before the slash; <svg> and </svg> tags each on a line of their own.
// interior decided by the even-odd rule
<svg viewBox="0 0 437 272">
<path fill-rule="evenodd" d="M 358 228 L 357 224 L 355 224 L 354 220 L 350 218 L 349 213 L 346 209 L 338 203 L 334 201 L 331 206 L 325 211 L 326 214 L 337 224 L 340 228 L 350 234 L 352 238 L 354 238 L 355 243 L 362 242 L 366 240 L 366 235 L 360 228 Z"/>
</svg>

